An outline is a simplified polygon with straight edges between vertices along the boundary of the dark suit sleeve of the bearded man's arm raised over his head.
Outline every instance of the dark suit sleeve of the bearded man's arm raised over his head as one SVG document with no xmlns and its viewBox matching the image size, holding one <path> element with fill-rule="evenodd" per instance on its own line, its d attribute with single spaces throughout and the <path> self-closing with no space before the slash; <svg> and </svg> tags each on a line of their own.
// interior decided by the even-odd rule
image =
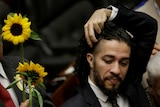
<svg viewBox="0 0 160 107">
<path fill-rule="evenodd" d="M 115 6 L 119 12 L 113 22 L 134 36 L 128 80 L 141 81 L 156 40 L 157 21 L 145 13 L 132 11 L 119 4 Z"/>
</svg>

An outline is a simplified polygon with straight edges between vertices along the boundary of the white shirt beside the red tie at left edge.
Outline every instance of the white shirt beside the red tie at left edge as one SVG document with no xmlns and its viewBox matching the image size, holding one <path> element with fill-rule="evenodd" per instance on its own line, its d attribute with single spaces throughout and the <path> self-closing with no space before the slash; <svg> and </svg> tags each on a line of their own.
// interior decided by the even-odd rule
<svg viewBox="0 0 160 107">
<path fill-rule="evenodd" d="M 10 84 L 10 81 L 9 81 L 6 73 L 4 72 L 4 69 L 3 69 L 1 63 L 0 63 L 0 83 L 5 88 Z M 9 94 L 10 94 L 14 104 L 16 105 L 16 107 L 19 107 L 18 99 L 17 99 L 17 96 L 16 96 L 14 90 L 12 88 L 10 88 L 10 89 L 7 89 L 7 91 L 9 92 Z"/>
</svg>

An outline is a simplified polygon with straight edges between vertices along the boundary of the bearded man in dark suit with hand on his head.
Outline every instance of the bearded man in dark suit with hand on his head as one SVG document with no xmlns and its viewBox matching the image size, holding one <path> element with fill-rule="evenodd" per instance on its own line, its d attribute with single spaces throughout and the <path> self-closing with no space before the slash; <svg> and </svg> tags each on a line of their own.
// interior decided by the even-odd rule
<svg viewBox="0 0 160 107">
<path fill-rule="evenodd" d="M 84 28 L 75 66 L 79 93 L 62 107 L 149 107 L 140 81 L 156 20 L 118 4 L 96 10 Z"/>
</svg>

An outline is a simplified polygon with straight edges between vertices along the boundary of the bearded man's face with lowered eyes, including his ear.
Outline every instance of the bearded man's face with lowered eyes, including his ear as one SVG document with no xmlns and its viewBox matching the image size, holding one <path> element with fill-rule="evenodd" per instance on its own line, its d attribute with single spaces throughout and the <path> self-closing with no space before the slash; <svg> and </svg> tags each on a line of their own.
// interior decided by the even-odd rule
<svg viewBox="0 0 160 107">
<path fill-rule="evenodd" d="M 116 40 L 101 41 L 96 53 L 87 54 L 91 81 L 107 95 L 117 92 L 126 76 L 129 58 L 130 47 L 126 43 Z"/>
</svg>

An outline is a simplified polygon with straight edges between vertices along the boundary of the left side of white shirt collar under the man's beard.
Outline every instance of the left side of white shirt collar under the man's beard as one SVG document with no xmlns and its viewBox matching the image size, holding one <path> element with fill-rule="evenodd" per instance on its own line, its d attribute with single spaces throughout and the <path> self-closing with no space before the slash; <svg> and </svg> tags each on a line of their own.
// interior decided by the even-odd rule
<svg viewBox="0 0 160 107">
<path fill-rule="evenodd" d="M 96 94 L 97 98 L 102 100 L 103 102 L 106 102 L 108 99 L 108 96 L 106 96 L 88 77 L 88 83 L 90 84 L 92 90 Z"/>
</svg>

